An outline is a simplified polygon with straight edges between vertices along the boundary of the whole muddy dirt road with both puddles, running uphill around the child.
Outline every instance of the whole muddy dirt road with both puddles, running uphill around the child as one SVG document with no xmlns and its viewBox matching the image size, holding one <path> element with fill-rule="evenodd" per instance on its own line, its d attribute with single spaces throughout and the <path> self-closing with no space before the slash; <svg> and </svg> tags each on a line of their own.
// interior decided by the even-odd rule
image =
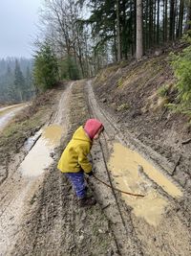
<svg viewBox="0 0 191 256">
<path fill-rule="evenodd" d="M 190 255 L 189 195 L 166 172 L 166 159 L 97 104 L 91 81 L 73 82 L 58 95 L 52 120 L 12 157 L 0 187 L 0 255 Z M 56 164 L 74 129 L 90 117 L 105 127 L 92 150 L 96 176 L 144 198 L 92 177 L 97 204 L 78 208 Z"/>
</svg>

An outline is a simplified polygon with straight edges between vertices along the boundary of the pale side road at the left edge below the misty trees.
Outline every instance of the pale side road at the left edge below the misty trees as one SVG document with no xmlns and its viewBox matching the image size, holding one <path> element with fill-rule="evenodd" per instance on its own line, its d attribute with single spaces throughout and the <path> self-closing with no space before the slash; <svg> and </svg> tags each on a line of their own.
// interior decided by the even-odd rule
<svg viewBox="0 0 191 256">
<path fill-rule="evenodd" d="M 6 127 L 13 116 L 25 106 L 26 104 L 19 104 L 0 108 L 0 131 Z"/>
</svg>

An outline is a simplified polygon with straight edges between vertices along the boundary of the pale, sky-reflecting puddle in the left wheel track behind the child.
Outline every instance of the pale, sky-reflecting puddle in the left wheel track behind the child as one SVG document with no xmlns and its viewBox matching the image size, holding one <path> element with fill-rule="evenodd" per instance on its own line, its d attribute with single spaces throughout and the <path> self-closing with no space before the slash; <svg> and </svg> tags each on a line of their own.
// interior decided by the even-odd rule
<svg viewBox="0 0 191 256">
<path fill-rule="evenodd" d="M 63 127 L 52 125 L 38 132 L 38 134 L 42 132 L 40 138 L 20 165 L 19 169 L 23 175 L 35 177 L 44 173 L 53 163 L 51 154 L 59 145 L 63 131 Z"/>
</svg>

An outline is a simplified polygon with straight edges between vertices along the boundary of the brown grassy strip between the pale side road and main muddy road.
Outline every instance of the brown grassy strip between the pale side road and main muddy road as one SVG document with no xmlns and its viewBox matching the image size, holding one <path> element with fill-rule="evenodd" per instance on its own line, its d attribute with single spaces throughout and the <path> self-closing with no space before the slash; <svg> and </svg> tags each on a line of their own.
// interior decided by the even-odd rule
<svg viewBox="0 0 191 256">
<path fill-rule="evenodd" d="M 25 141 L 41 128 L 51 117 L 55 91 L 38 96 L 32 105 L 16 115 L 0 134 L 0 158 L 19 151 Z"/>
</svg>

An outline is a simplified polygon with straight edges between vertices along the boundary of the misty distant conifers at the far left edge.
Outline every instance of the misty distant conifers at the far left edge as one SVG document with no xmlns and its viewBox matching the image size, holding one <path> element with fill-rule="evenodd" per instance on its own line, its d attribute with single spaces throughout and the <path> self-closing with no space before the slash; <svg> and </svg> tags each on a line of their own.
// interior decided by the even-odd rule
<svg viewBox="0 0 191 256">
<path fill-rule="evenodd" d="M 0 103 L 29 101 L 35 95 L 32 58 L 0 58 Z"/>
</svg>

